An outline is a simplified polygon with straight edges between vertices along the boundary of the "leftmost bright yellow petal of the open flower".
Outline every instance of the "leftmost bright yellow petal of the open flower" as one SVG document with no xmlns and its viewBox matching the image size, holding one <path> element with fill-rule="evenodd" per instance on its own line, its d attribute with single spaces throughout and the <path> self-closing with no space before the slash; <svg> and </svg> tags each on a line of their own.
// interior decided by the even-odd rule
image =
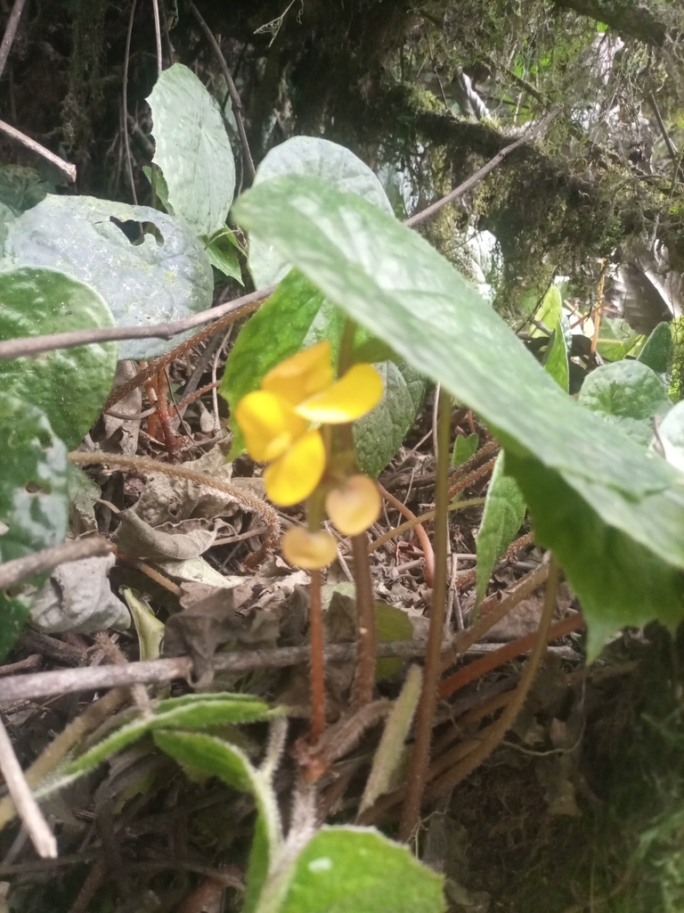
<svg viewBox="0 0 684 913">
<path fill-rule="evenodd" d="M 292 406 L 264 390 L 255 390 L 240 400 L 235 406 L 235 421 L 244 435 L 247 452 L 262 463 L 282 456 L 306 432 L 306 422 Z"/>
</svg>

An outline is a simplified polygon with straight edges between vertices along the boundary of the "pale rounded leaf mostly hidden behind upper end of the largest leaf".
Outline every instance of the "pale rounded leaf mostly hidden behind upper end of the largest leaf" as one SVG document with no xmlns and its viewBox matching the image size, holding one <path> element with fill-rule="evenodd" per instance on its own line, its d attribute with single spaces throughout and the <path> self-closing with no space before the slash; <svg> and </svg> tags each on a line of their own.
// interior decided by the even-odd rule
<svg viewBox="0 0 684 913">
<path fill-rule="evenodd" d="M 354 152 L 336 142 L 313 136 L 295 136 L 281 142 L 259 165 L 254 186 L 285 174 L 322 178 L 347 194 L 362 196 L 392 215 L 392 205 L 375 174 Z M 249 268 L 257 289 L 280 282 L 290 269 L 286 258 L 256 233 L 249 239 Z"/>
</svg>

